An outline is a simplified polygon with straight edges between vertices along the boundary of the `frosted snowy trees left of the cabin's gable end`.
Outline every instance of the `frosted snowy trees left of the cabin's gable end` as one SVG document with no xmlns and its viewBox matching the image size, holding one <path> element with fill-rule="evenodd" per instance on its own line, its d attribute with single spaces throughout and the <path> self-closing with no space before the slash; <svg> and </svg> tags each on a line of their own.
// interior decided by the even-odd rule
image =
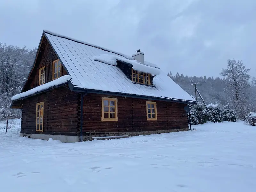
<svg viewBox="0 0 256 192">
<path fill-rule="evenodd" d="M 36 51 L 36 48 L 7 46 L 0 42 L 0 120 L 20 118 L 20 110 L 10 109 L 10 98 L 20 93 L 28 78 Z"/>
</svg>

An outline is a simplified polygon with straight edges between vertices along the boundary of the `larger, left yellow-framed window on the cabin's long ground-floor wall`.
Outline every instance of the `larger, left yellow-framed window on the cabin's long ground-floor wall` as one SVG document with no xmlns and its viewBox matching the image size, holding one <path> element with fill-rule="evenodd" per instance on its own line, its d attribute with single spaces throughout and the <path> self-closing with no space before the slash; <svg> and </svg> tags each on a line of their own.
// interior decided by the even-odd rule
<svg viewBox="0 0 256 192">
<path fill-rule="evenodd" d="M 117 121 L 117 99 L 102 97 L 101 121 Z"/>
</svg>

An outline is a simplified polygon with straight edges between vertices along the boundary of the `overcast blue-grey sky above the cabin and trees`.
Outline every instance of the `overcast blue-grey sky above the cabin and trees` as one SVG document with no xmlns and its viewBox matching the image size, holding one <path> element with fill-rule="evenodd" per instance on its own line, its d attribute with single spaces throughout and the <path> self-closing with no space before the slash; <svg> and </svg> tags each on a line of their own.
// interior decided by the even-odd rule
<svg viewBox="0 0 256 192">
<path fill-rule="evenodd" d="M 234 57 L 256 76 L 255 0 L 0 0 L 0 42 L 37 47 L 44 29 L 166 73 L 216 77 Z"/>
</svg>

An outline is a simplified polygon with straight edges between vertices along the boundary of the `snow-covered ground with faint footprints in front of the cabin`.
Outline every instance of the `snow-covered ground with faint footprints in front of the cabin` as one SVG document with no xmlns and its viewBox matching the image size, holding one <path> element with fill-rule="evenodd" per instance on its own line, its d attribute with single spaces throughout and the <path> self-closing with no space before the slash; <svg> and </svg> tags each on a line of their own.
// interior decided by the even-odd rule
<svg viewBox="0 0 256 192">
<path fill-rule="evenodd" d="M 0 191 L 254 192 L 256 128 L 242 123 L 82 143 L 20 138 L 20 120 L 7 134 L 0 123 Z"/>
</svg>

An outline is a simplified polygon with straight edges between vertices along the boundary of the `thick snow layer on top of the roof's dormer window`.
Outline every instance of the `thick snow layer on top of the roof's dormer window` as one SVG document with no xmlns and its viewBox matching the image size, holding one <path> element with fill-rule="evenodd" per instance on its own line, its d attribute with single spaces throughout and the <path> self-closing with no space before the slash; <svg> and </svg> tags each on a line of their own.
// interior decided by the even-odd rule
<svg viewBox="0 0 256 192">
<path fill-rule="evenodd" d="M 136 61 L 136 60 L 130 60 L 122 57 L 118 57 L 116 55 L 108 55 L 108 54 L 102 54 L 99 56 L 94 56 L 92 57 L 93 60 L 99 61 L 108 65 L 117 65 L 117 61 L 121 61 L 124 63 L 128 63 L 132 65 L 132 68 L 137 71 L 141 71 L 144 73 L 150 73 L 154 75 L 159 75 L 160 74 L 160 69 L 156 67 L 150 67 L 148 65 L 143 65 L 142 63 Z"/>
</svg>

